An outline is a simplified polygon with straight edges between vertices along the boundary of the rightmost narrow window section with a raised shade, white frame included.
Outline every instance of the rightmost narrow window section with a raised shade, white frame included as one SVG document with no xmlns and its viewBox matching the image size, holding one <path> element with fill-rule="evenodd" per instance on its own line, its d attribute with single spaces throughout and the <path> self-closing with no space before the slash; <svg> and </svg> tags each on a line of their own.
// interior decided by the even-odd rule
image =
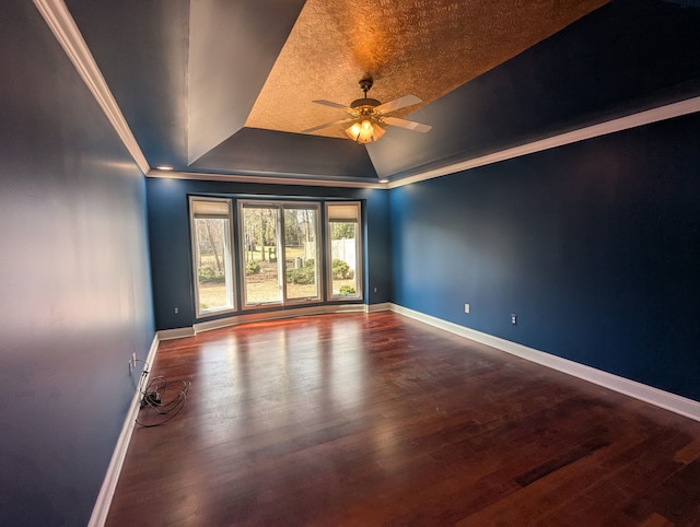
<svg viewBox="0 0 700 527">
<path fill-rule="evenodd" d="M 362 298 L 360 203 L 326 203 L 328 298 Z"/>
</svg>

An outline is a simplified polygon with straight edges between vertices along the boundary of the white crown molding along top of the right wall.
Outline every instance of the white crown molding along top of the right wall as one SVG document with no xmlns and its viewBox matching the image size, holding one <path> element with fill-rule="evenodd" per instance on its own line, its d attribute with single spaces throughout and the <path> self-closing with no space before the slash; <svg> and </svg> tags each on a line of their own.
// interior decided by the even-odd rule
<svg viewBox="0 0 700 527">
<path fill-rule="evenodd" d="M 472 157 L 459 163 L 453 163 L 451 165 L 432 171 L 422 172 L 420 174 L 416 174 L 415 176 L 409 176 L 396 181 L 389 181 L 387 187 L 404 187 L 405 185 L 411 185 L 413 183 L 424 181 L 427 179 L 434 179 L 435 177 L 456 174 L 457 172 L 464 172 L 471 168 L 477 168 L 479 166 L 490 165 L 500 161 L 512 160 L 514 157 L 533 154 L 535 152 L 541 152 L 544 150 L 556 149 L 565 144 L 572 144 L 579 141 L 585 141 L 586 139 L 593 139 L 600 136 L 606 136 L 608 133 L 629 130 L 631 128 L 651 125 L 653 122 L 673 119 L 674 117 L 695 114 L 697 112 L 700 112 L 700 97 L 692 97 L 686 101 L 680 101 L 678 103 L 658 106 L 656 108 L 580 128 L 570 132 L 540 139 L 539 141 L 521 144 L 512 149 L 501 150 L 499 152 L 481 155 L 479 157 Z"/>
</svg>

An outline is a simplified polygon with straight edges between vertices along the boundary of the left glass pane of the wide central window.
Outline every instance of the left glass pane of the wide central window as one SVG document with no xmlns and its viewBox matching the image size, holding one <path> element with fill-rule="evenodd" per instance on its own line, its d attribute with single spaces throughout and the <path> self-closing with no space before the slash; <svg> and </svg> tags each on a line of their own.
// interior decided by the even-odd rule
<svg viewBox="0 0 700 527">
<path fill-rule="evenodd" d="M 281 302 L 279 247 L 277 229 L 279 209 L 245 203 L 243 211 L 246 305 Z"/>
</svg>

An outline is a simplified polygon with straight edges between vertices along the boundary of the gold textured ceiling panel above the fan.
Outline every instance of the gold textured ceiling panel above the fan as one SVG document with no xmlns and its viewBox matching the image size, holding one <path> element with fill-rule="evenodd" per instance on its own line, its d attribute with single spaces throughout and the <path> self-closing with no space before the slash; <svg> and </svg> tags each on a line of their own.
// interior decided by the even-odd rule
<svg viewBox="0 0 700 527">
<path fill-rule="evenodd" d="M 557 33 L 608 0 L 307 0 L 246 127 L 300 132 L 341 119 L 375 83 L 382 102 L 412 93 L 435 101 Z M 428 122 L 429 125 L 434 125 Z M 314 132 L 345 138 L 342 126 Z"/>
</svg>

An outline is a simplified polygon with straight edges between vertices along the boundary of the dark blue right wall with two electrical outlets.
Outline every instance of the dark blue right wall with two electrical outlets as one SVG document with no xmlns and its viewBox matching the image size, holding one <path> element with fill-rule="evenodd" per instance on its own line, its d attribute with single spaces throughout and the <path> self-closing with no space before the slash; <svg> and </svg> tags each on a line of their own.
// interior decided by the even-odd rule
<svg viewBox="0 0 700 527">
<path fill-rule="evenodd" d="M 395 302 L 700 400 L 698 130 L 696 114 L 393 190 Z"/>
</svg>

